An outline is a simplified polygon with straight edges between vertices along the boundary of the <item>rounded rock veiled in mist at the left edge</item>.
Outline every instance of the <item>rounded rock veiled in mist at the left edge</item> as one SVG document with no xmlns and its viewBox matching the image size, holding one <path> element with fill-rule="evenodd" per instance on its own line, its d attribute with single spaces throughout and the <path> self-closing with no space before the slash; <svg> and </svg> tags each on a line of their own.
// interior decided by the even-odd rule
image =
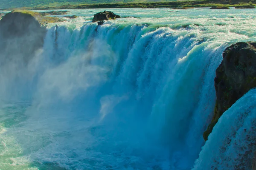
<svg viewBox="0 0 256 170">
<path fill-rule="evenodd" d="M 46 28 L 31 14 L 11 12 L 0 21 L 0 65 L 9 60 L 28 62 L 44 45 Z"/>
</svg>

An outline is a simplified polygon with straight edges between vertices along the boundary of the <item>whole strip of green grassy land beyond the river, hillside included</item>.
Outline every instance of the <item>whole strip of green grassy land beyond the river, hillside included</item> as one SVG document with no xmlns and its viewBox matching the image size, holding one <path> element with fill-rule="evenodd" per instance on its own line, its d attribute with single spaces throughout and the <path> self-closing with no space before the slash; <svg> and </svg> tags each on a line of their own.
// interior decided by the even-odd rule
<svg viewBox="0 0 256 170">
<path fill-rule="evenodd" d="M 158 2 L 148 2 L 158 1 Z M 160 2 L 159 2 L 160 1 Z M 74 8 L 254 8 L 256 0 L 1 0 L 0 8 L 74 9 Z"/>
</svg>

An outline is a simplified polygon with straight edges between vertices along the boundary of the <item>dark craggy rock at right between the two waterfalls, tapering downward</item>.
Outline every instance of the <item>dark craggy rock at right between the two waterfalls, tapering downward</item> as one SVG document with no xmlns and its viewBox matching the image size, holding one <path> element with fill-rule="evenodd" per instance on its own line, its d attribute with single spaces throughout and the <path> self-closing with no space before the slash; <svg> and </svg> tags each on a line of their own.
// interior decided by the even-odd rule
<svg viewBox="0 0 256 170">
<path fill-rule="evenodd" d="M 216 104 L 207 140 L 220 116 L 251 88 L 256 87 L 256 42 L 238 42 L 226 48 L 214 79 Z"/>
</svg>

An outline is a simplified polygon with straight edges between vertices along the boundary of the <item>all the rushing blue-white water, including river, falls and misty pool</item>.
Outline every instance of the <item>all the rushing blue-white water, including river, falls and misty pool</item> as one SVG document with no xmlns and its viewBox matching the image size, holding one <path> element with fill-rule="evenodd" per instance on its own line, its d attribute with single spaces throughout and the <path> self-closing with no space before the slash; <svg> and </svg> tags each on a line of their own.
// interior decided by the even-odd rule
<svg viewBox="0 0 256 170">
<path fill-rule="evenodd" d="M 0 169 L 249 169 L 255 90 L 202 134 L 221 54 L 256 40 L 256 9 L 108 9 L 123 18 L 91 23 L 103 10 L 69 10 L 26 66 L 1 65 Z"/>
</svg>

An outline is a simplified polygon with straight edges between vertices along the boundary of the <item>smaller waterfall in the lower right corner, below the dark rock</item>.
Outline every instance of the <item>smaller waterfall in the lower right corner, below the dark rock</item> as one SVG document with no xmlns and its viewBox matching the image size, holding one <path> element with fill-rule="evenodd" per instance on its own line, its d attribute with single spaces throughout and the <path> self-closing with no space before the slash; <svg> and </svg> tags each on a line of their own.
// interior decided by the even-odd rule
<svg viewBox="0 0 256 170">
<path fill-rule="evenodd" d="M 250 90 L 221 116 L 193 170 L 251 168 L 256 149 L 255 93 Z"/>
</svg>

